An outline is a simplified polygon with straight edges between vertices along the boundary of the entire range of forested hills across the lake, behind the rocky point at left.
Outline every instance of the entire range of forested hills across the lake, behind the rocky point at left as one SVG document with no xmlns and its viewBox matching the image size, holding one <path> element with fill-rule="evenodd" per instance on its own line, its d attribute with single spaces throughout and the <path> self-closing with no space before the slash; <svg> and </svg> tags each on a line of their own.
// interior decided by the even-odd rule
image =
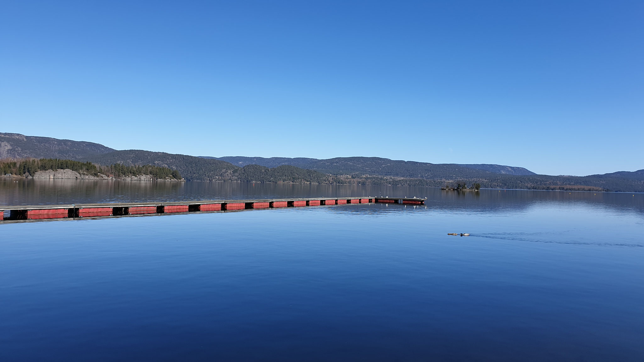
<svg viewBox="0 0 644 362">
<path fill-rule="evenodd" d="M 644 192 L 644 170 L 589 176 L 549 176 L 535 175 L 523 167 L 493 164 L 430 164 L 379 157 L 339 157 L 328 160 L 286 157 L 193 157 L 143 150 L 115 151 L 91 142 L 27 137 L 16 133 L 0 133 L 0 136 L 0 149 L 4 149 L 5 156 L 11 152 L 15 155 L 19 149 L 21 155 L 33 157 L 32 155 L 46 152 L 46 148 L 52 146 L 52 154 L 64 152 L 70 155 L 70 160 L 81 163 L 135 167 L 123 168 L 134 170 L 131 172 L 141 172 L 137 171 L 136 167 L 150 165 L 169 169 L 170 172 L 174 170 L 186 180 L 193 181 L 433 187 L 480 184 L 482 188 L 501 189 Z M 43 144 L 39 144 L 41 138 Z M 28 152 L 29 149 L 33 154 Z M 115 170 L 116 168 L 113 168 L 111 172 L 116 173 Z"/>
</svg>

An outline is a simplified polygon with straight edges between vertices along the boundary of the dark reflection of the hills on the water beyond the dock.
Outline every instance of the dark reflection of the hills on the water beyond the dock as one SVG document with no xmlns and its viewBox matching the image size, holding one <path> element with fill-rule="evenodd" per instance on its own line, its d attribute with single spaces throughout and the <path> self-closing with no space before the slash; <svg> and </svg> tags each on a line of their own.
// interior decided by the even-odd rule
<svg viewBox="0 0 644 362">
<path fill-rule="evenodd" d="M 589 205 L 605 212 L 644 215 L 644 194 L 523 190 L 481 190 L 476 193 L 444 191 L 435 187 L 0 178 L 0 205 L 357 196 L 427 197 L 425 207 L 429 210 L 476 211 L 481 216 L 520 213 L 536 206 L 563 205 Z M 374 212 L 384 213 L 386 210 Z"/>
</svg>

